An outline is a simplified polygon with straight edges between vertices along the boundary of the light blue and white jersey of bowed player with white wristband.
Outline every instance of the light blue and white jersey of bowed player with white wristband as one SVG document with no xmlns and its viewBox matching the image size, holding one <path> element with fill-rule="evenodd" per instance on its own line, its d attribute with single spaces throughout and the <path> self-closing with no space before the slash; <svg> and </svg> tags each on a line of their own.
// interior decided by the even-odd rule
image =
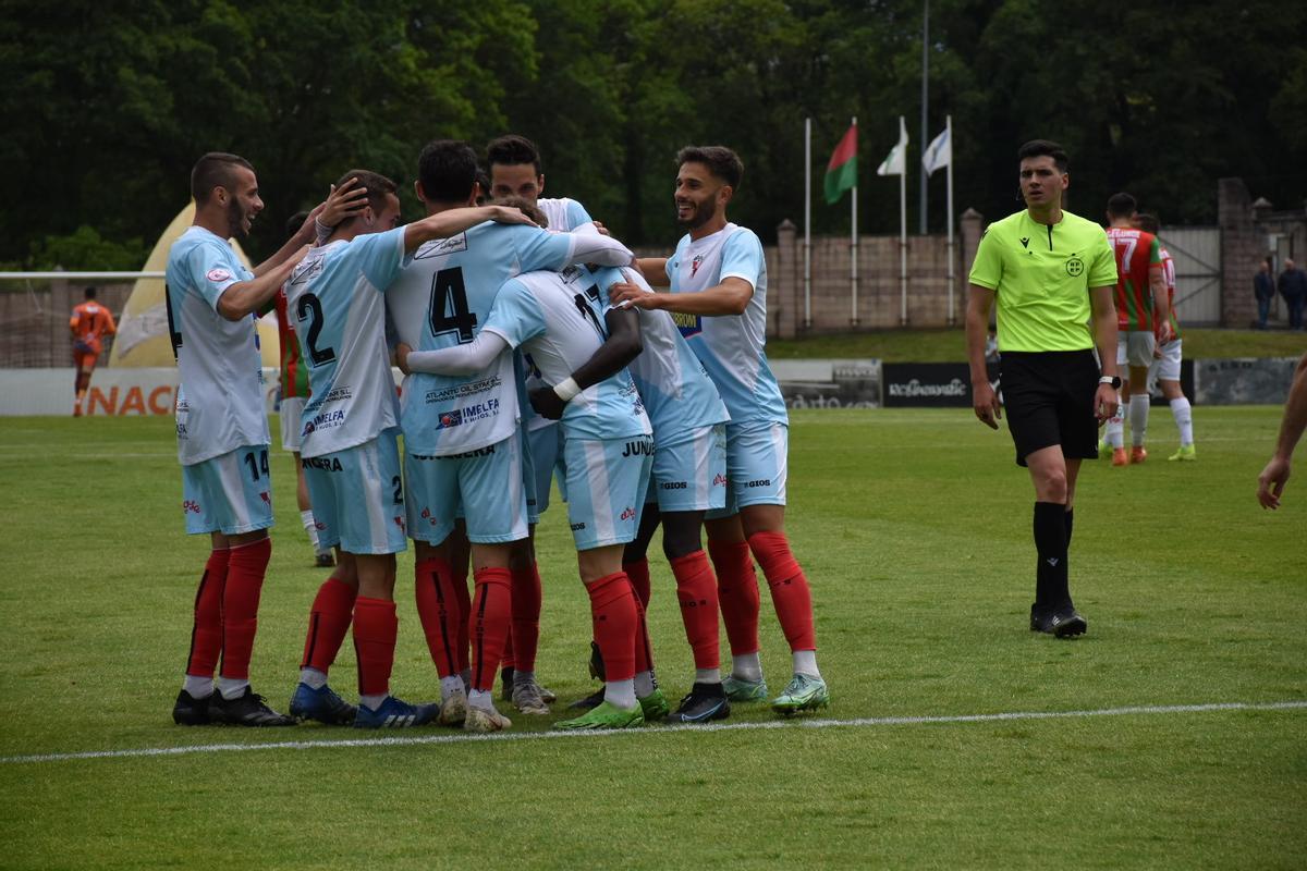
<svg viewBox="0 0 1307 871">
<path fill-rule="evenodd" d="M 486 329 L 531 354 L 545 383 L 565 381 L 608 341 L 586 296 L 593 286 L 582 266 L 518 276 L 499 290 Z M 569 439 L 622 439 L 652 432 L 625 368 L 572 397 L 562 426 Z"/>
</svg>

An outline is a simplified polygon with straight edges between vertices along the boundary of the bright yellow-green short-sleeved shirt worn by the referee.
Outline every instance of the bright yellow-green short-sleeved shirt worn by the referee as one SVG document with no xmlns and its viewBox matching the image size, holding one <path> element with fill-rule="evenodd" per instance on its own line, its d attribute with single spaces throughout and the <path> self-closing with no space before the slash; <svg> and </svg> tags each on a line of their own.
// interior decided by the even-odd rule
<svg viewBox="0 0 1307 871">
<path fill-rule="evenodd" d="M 1094 347 L 1089 289 L 1116 286 L 1116 257 L 1093 221 L 1044 225 L 1022 209 L 980 236 L 970 281 L 999 302 L 1000 351 L 1080 351 Z"/>
</svg>

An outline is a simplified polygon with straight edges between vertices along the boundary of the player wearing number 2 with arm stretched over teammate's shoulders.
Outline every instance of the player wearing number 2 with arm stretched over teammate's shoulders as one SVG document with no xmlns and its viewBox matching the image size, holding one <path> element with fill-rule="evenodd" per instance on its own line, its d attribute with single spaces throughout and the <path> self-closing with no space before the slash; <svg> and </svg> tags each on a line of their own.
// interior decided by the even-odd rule
<svg viewBox="0 0 1307 871">
<path fill-rule="evenodd" d="M 306 661 L 291 713 L 341 722 L 348 705 L 327 686 L 327 669 L 344 640 L 340 603 L 354 593 L 354 649 L 359 709 L 356 727 L 418 726 L 435 705 L 389 695 L 395 661 L 395 554 L 405 548 L 404 491 L 397 445 L 399 409 L 386 347 L 382 294 L 418 245 L 488 219 L 529 223 L 516 209 L 485 206 L 427 217 L 405 227 L 389 179 L 357 170 L 367 189 L 361 215 L 342 222 L 291 273 L 286 306 L 308 364 L 311 400 L 301 415 L 301 457 L 318 504 L 322 541 L 339 545 L 340 565 L 319 590 L 310 618 Z M 348 592 L 346 592 L 348 590 Z"/>
</svg>

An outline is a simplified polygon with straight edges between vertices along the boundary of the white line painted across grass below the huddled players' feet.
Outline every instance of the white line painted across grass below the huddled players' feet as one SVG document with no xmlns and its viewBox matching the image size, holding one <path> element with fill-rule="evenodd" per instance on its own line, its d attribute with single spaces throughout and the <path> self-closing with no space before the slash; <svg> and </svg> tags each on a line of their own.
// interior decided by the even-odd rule
<svg viewBox="0 0 1307 871">
<path fill-rule="evenodd" d="M 223 753 L 255 750 L 318 750 L 336 747 L 409 747 L 418 744 L 465 744 L 471 742 L 545 740 L 554 738 L 617 738 L 661 735 L 693 731 L 744 731 L 757 729 L 831 729 L 836 726 L 920 726 L 931 723 L 984 723 L 1013 720 L 1070 720 L 1082 717 L 1127 717 L 1136 714 L 1195 714 L 1227 710 L 1303 710 L 1307 701 L 1227 701 L 1195 705 L 1132 705 L 1090 710 L 1014 710 L 997 714 L 941 714 L 924 717 L 859 717 L 855 720 L 771 720 L 748 723 L 706 723 L 703 726 L 660 726 L 618 731 L 525 731 L 489 735 L 404 735 L 388 738 L 349 738 L 345 740 L 280 740 L 267 744 L 195 744 L 191 747 L 144 747 L 137 750 L 91 750 L 77 753 L 33 753 L 0 756 L 0 764 L 64 763 L 81 759 L 132 759 L 140 756 L 184 756 L 188 753 Z"/>
</svg>

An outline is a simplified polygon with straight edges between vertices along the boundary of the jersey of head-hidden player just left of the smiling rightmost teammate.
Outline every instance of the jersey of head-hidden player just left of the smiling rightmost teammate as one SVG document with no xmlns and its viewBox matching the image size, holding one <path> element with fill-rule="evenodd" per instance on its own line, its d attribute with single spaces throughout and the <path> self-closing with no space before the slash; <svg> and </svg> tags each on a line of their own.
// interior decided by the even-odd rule
<svg viewBox="0 0 1307 871">
<path fill-rule="evenodd" d="M 587 298 L 601 321 L 612 308 L 608 293 L 613 285 L 630 282 L 654 293 L 635 269 L 600 269 L 593 273 L 593 281 Z M 644 400 L 655 441 L 676 444 L 693 436 L 695 430 L 729 420 L 716 385 L 676 328 L 672 315 L 644 308 L 635 311 L 640 319 L 643 350 L 626 368 Z"/>
</svg>

